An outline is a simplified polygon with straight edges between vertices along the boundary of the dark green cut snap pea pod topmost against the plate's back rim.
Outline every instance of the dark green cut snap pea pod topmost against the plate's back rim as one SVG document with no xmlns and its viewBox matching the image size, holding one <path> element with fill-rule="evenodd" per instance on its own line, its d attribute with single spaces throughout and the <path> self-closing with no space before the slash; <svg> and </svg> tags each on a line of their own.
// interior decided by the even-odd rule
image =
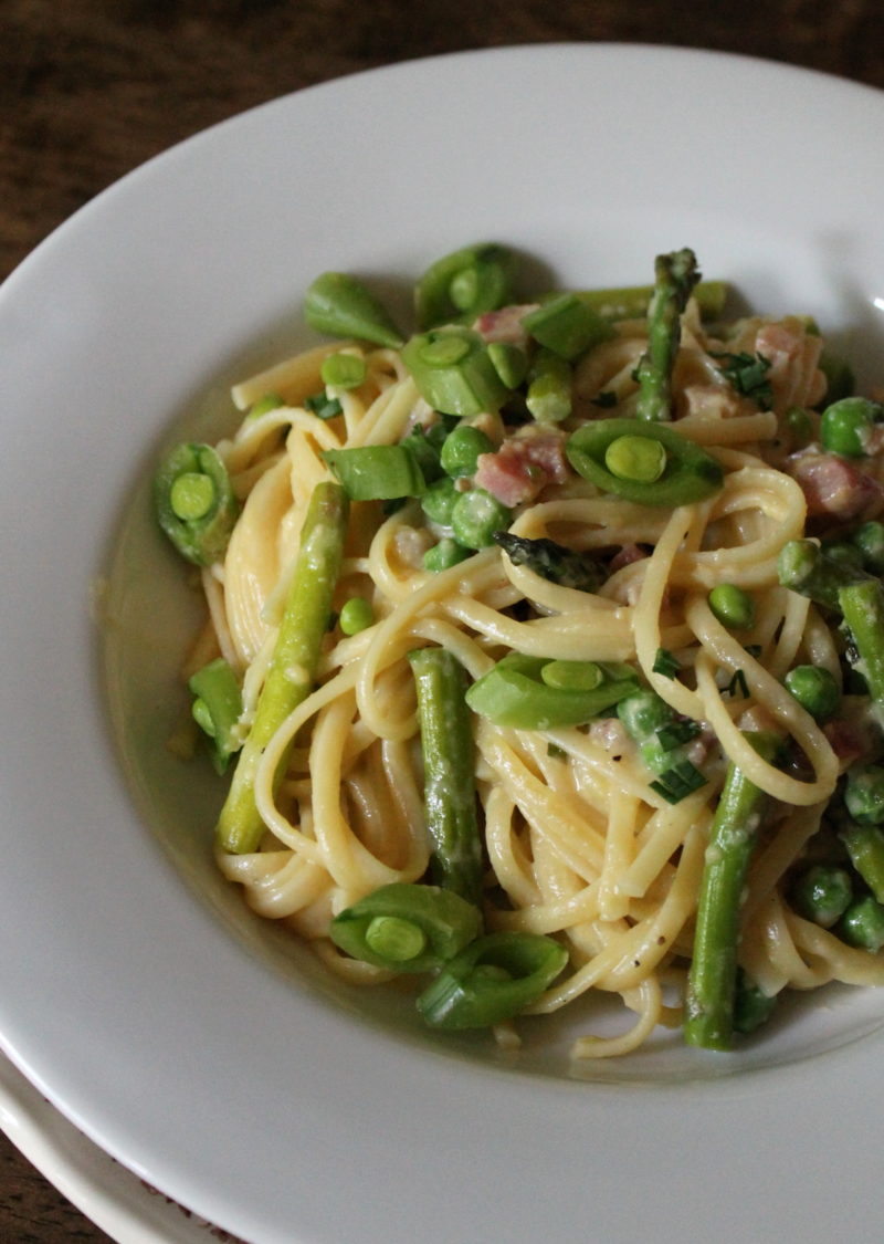
<svg viewBox="0 0 884 1244">
<path fill-rule="evenodd" d="M 438 259 L 418 281 L 414 309 L 423 331 L 443 323 L 470 323 L 513 297 L 516 256 L 497 243 L 464 246 Z"/>
</svg>

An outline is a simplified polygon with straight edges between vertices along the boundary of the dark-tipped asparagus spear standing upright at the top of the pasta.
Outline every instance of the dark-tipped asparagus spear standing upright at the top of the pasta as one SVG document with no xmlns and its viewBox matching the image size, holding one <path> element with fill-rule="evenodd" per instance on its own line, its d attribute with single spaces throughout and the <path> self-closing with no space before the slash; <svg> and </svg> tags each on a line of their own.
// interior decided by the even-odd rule
<svg viewBox="0 0 884 1244">
<path fill-rule="evenodd" d="M 639 360 L 635 414 L 654 422 L 671 419 L 671 374 L 681 340 L 681 312 L 700 274 L 693 250 L 658 255 L 655 285 L 648 305 L 648 348 Z"/>
</svg>

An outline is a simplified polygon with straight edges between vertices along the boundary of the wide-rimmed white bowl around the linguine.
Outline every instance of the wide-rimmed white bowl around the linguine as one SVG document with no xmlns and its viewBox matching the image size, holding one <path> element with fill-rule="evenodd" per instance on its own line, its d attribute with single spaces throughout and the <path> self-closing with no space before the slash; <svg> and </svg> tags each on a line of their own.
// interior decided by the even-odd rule
<svg viewBox="0 0 884 1244">
<path fill-rule="evenodd" d="M 569 1076 L 533 1029 L 506 1061 L 388 1024 L 247 918 L 213 792 L 163 748 L 188 623 L 144 480 L 183 427 L 218 430 L 233 374 L 307 340 L 317 272 L 397 292 L 487 236 L 581 285 L 693 245 L 880 381 L 883 132 L 879 93 L 772 63 L 463 53 L 213 129 L 9 280 L 0 1035 L 138 1176 L 252 1244 L 822 1242 L 848 1197 L 880 1237 L 879 994 L 797 1005 L 732 1059 L 664 1041 Z"/>
</svg>

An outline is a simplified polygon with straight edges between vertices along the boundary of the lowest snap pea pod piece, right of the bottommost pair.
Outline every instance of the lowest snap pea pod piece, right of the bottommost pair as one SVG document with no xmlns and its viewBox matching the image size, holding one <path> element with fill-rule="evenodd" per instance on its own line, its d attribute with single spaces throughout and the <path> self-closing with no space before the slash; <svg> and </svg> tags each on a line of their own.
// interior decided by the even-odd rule
<svg viewBox="0 0 884 1244">
<path fill-rule="evenodd" d="M 567 962 L 568 952 L 551 937 L 489 933 L 443 968 L 418 1010 L 431 1028 L 490 1028 L 536 1001 Z"/>
</svg>

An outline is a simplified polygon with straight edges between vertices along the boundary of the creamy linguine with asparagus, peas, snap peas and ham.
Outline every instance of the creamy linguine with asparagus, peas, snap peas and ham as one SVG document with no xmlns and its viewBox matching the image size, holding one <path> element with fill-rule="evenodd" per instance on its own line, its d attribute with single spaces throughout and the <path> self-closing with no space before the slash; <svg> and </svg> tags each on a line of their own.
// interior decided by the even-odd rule
<svg viewBox="0 0 884 1244">
<path fill-rule="evenodd" d="M 323 343 L 157 471 L 218 866 L 434 1028 L 729 1050 L 884 982 L 884 407 L 727 297 L 685 249 L 528 299 L 482 244 L 407 335 L 326 272 Z"/>
</svg>

